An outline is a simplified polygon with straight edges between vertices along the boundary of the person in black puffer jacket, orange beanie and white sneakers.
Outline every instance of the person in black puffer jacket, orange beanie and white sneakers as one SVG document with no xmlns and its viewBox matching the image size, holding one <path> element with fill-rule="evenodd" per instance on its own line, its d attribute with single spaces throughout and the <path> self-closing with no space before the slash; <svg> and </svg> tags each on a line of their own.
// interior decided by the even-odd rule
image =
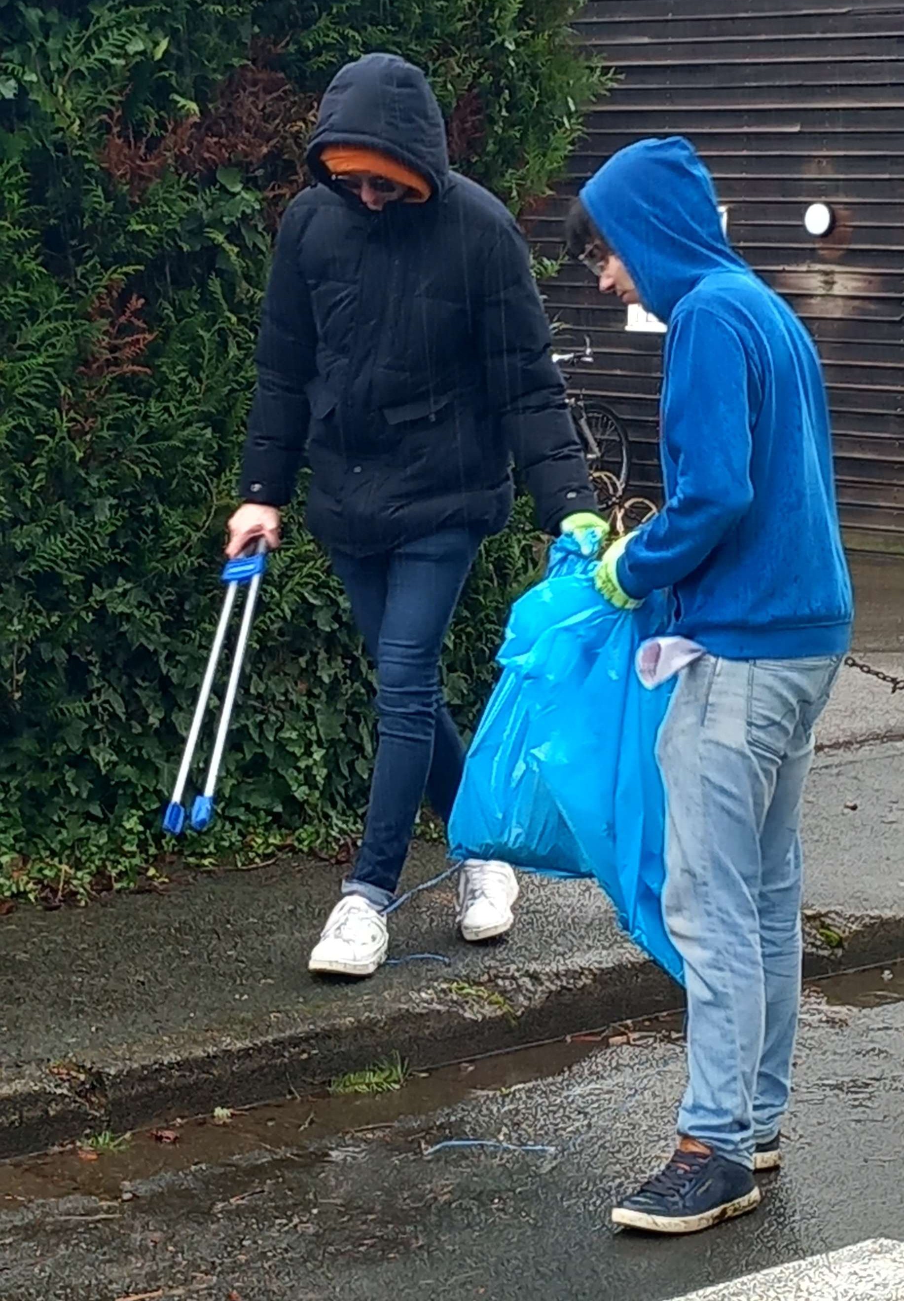
<svg viewBox="0 0 904 1301">
<path fill-rule="evenodd" d="M 360 852 L 310 967 L 368 976 L 424 792 L 447 820 L 458 791 L 440 656 L 481 540 L 509 519 L 512 462 L 549 533 L 592 548 L 606 526 L 525 243 L 450 170 L 424 74 L 393 55 L 345 66 L 307 161 L 316 183 L 286 209 L 267 288 L 228 553 L 278 545 L 307 463 L 307 524 L 376 664 L 380 725 Z M 507 930 L 516 894 L 506 864 L 464 864 L 464 938 Z"/>
</svg>

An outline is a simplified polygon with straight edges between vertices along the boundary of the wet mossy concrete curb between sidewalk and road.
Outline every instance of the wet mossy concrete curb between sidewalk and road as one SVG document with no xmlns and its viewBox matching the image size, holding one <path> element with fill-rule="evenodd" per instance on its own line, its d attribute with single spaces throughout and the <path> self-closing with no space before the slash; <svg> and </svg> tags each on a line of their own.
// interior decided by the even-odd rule
<svg viewBox="0 0 904 1301">
<path fill-rule="evenodd" d="M 904 917 L 810 911 L 805 933 L 808 977 L 904 958 Z M 337 1015 L 333 1006 L 241 1038 L 168 1036 L 52 1067 L 7 1067 L 0 1072 L 0 1158 L 103 1129 L 140 1128 L 166 1115 L 304 1093 L 392 1051 L 428 1069 L 680 1006 L 680 990 L 631 952 L 598 968 L 502 968 L 472 985 L 437 978 L 385 1007 Z"/>
</svg>

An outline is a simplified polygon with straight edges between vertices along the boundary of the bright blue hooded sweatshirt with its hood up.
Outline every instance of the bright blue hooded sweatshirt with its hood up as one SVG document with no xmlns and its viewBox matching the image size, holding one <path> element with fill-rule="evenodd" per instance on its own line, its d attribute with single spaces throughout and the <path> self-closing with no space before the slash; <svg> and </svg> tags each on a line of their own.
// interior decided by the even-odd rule
<svg viewBox="0 0 904 1301">
<path fill-rule="evenodd" d="M 843 654 L 851 579 L 810 336 L 728 245 L 687 141 L 622 150 L 580 199 L 669 325 L 666 505 L 628 543 L 623 589 L 671 588 L 672 631 L 727 660 Z"/>
</svg>

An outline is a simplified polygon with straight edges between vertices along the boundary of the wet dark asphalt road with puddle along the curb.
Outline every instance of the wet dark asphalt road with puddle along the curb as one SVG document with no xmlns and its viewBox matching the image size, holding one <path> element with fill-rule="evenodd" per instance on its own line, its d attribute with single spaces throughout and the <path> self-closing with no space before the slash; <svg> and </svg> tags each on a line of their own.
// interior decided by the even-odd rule
<svg viewBox="0 0 904 1301">
<path fill-rule="evenodd" d="M 142 1297 L 659 1301 L 865 1239 L 904 1239 L 904 969 L 808 993 L 786 1170 L 752 1216 L 615 1235 L 670 1147 L 674 1025 L 450 1068 L 382 1099 L 299 1099 L 0 1167 L 4 1301 Z M 853 1004 L 853 1006 L 852 1006 Z M 865 1006 L 858 1006 L 865 1004 Z M 550 1151 L 431 1147 L 450 1138 Z"/>
</svg>

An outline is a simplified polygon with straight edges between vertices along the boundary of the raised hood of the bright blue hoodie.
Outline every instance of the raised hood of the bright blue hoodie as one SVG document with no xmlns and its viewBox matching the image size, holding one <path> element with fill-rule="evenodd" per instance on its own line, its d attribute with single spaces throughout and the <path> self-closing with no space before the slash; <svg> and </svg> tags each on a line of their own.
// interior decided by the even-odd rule
<svg viewBox="0 0 904 1301">
<path fill-rule="evenodd" d="M 581 189 L 580 202 L 659 320 L 710 272 L 749 275 L 722 232 L 713 178 L 680 135 L 620 150 Z"/>
</svg>

